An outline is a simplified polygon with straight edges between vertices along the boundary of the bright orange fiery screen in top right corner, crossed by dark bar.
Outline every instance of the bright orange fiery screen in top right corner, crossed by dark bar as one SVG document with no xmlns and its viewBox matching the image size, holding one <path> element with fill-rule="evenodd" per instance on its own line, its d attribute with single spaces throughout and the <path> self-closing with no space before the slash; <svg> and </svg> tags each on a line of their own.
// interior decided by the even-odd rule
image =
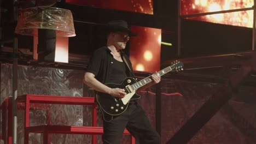
<svg viewBox="0 0 256 144">
<path fill-rule="evenodd" d="M 230 9 L 251 8 L 254 0 L 182 0 L 181 14 L 206 13 Z M 214 14 L 189 19 L 222 23 L 242 27 L 253 26 L 253 10 L 238 11 L 233 13 Z"/>
</svg>

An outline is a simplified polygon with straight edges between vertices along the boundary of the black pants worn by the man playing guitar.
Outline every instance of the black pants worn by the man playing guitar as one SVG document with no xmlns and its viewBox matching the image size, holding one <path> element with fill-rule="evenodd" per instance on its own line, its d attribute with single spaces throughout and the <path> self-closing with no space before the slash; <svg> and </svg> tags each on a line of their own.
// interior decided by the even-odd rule
<svg viewBox="0 0 256 144">
<path fill-rule="evenodd" d="M 120 143 L 125 128 L 135 137 L 136 142 L 141 144 L 161 143 L 159 134 L 150 124 L 142 107 L 137 104 L 130 104 L 124 113 L 113 117 L 110 122 L 103 120 L 103 143 Z"/>
</svg>

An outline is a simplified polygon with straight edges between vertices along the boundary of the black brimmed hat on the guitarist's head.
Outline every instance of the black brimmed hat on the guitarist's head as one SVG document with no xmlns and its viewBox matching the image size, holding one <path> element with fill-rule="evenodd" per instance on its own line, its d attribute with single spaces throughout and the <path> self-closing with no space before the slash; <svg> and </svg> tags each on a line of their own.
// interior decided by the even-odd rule
<svg viewBox="0 0 256 144">
<path fill-rule="evenodd" d="M 130 36 L 137 36 L 128 28 L 127 22 L 123 20 L 115 20 L 108 22 L 108 33 L 109 32 L 127 32 Z"/>
</svg>

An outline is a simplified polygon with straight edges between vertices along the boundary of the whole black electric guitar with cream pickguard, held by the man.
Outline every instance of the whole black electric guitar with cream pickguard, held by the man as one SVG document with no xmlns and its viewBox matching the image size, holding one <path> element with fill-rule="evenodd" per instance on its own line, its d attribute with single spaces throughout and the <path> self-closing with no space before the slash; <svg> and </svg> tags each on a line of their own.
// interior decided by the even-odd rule
<svg viewBox="0 0 256 144">
<path fill-rule="evenodd" d="M 181 70 L 183 70 L 183 63 L 179 61 L 175 61 L 173 62 L 172 65 L 158 71 L 158 73 L 156 74 L 159 76 L 162 76 L 170 71 L 181 71 Z M 132 77 L 126 77 L 123 80 L 123 82 L 121 82 L 120 84 L 106 83 L 105 85 L 110 88 L 125 89 L 125 93 L 126 93 L 125 97 L 118 98 L 118 97 L 113 97 L 112 95 L 109 95 L 107 93 L 97 92 L 96 100 L 100 108 L 107 114 L 112 116 L 120 115 L 127 109 L 127 106 L 130 100 L 141 98 L 140 95 L 136 94 L 136 90 L 144 85 L 147 85 L 147 83 L 151 81 L 152 81 L 151 76 L 148 76 L 145 79 L 140 80 L 138 82 Z"/>
</svg>

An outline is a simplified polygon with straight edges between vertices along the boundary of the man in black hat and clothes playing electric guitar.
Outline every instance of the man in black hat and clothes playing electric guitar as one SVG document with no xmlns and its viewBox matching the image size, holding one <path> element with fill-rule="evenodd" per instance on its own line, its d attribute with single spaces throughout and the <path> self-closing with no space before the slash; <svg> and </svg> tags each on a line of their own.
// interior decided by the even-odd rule
<svg viewBox="0 0 256 144">
<path fill-rule="evenodd" d="M 125 88 L 108 87 L 103 83 L 121 83 L 126 77 L 134 77 L 130 59 L 122 50 L 125 49 L 129 38 L 135 35 L 129 30 L 127 22 L 122 20 L 109 22 L 107 46 L 97 49 L 92 55 L 88 70 L 84 75 L 84 83 L 97 92 L 110 95 L 115 100 L 124 98 L 127 94 Z M 138 90 L 160 82 L 160 75 L 153 74 L 150 78 L 152 81 Z M 99 97 L 96 99 L 99 100 Z M 109 109 L 112 108 L 109 107 Z M 127 103 L 127 109 L 120 115 L 108 115 L 101 106 L 100 109 L 103 116 L 102 141 L 104 144 L 119 143 L 125 128 L 139 143 L 161 143 L 159 134 L 152 127 L 144 110 L 136 100 L 130 100 Z M 115 109 L 114 112 L 118 112 L 118 110 Z"/>
</svg>

